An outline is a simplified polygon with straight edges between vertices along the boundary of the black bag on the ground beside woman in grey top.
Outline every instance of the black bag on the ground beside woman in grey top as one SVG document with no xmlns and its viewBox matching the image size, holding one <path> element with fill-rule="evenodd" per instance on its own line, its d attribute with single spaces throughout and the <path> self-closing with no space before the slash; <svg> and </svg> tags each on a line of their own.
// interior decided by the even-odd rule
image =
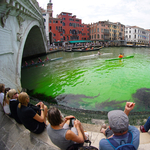
<svg viewBox="0 0 150 150">
<path fill-rule="evenodd" d="M 66 150 L 98 150 L 98 148 L 91 146 L 90 140 L 85 140 L 85 143 L 89 143 L 89 146 L 83 146 L 83 144 L 73 144 L 69 146 Z"/>
</svg>

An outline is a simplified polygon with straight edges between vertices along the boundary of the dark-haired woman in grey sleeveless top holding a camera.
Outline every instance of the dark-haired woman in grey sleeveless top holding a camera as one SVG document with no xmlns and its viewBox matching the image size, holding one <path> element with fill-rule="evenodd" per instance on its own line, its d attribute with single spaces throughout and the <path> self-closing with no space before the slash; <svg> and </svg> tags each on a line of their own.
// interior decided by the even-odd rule
<svg viewBox="0 0 150 150">
<path fill-rule="evenodd" d="M 74 118 L 71 120 L 72 127 L 69 126 L 71 118 Z M 47 133 L 51 141 L 61 150 L 66 150 L 75 143 L 83 145 L 88 138 L 79 120 L 75 120 L 74 116 L 63 118 L 56 107 L 49 109 L 47 119 L 50 123 L 47 126 Z"/>
</svg>

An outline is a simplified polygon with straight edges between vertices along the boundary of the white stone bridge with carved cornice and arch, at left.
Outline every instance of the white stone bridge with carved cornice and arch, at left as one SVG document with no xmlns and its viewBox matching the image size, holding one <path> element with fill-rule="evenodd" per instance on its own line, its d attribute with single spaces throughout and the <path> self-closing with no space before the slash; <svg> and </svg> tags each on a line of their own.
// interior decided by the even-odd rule
<svg viewBox="0 0 150 150">
<path fill-rule="evenodd" d="M 47 39 L 36 0 L 0 0 L 0 83 L 21 90 L 22 58 L 44 54 Z"/>
</svg>

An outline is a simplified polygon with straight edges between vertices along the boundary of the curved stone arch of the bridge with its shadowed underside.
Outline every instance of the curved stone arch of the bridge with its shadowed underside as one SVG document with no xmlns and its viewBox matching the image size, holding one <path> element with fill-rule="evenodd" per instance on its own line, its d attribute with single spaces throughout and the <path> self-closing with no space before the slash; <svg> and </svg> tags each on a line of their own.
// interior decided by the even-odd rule
<svg viewBox="0 0 150 150">
<path fill-rule="evenodd" d="M 32 21 L 24 30 L 17 53 L 16 83 L 21 85 L 21 64 L 23 57 L 46 53 L 47 43 L 39 22 Z"/>
</svg>

